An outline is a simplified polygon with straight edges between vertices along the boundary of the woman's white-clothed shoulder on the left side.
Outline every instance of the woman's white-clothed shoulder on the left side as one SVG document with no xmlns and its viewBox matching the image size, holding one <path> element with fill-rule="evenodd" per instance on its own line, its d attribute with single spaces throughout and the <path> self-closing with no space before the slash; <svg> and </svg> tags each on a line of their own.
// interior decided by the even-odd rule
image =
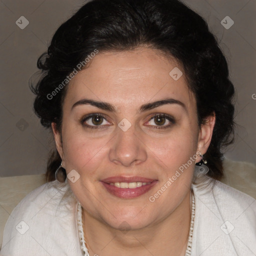
<svg viewBox="0 0 256 256">
<path fill-rule="evenodd" d="M 76 210 L 68 184 L 51 181 L 34 189 L 12 210 L 0 255 L 79 255 Z"/>
</svg>

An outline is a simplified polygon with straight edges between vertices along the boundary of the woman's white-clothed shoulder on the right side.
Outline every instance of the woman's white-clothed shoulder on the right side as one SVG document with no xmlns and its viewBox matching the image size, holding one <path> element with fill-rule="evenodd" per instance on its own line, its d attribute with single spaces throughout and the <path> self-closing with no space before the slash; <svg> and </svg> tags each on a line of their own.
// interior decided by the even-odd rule
<svg viewBox="0 0 256 256">
<path fill-rule="evenodd" d="M 192 255 L 203 251 L 207 255 L 221 252 L 226 256 L 256 252 L 256 200 L 220 181 L 209 178 L 207 182 L 192 185 L 195 196 Z"/>
</svg>

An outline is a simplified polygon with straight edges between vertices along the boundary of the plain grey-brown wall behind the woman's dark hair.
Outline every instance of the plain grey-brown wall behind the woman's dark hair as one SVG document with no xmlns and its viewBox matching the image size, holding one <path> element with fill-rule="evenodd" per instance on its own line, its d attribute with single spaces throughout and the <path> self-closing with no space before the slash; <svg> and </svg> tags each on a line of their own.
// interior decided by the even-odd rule
<svg viewBox="0 0 256 256">
<path fill-rule="evenodd" d="M 51 135 L 32 111 L 28 80 L 57 27 L 85 1 L 0 0 L 0 176 L 45 172 Z M 208 22 L 229 63 L 237 101 L 235 142 L 225 156 L 256 163 L 256 0 L 184 0 Z M 20 29 L 16 20 L 29 24 Z M 234 24 L 224 28 L 229 16 Z M 256 98 L 256 95 L 255 97 Z"/>
</svg>

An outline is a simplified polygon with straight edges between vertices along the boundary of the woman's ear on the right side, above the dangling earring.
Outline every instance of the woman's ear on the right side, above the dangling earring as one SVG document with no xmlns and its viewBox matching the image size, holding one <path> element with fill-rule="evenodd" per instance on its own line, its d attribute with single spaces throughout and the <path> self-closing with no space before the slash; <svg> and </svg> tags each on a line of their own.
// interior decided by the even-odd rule
<svg viewBox="0 0 256 256">
<path fill-rule="evenodd" d="M 215 112 L 207 116 L 205 124 L 202 124 L 198 133 L 197 151 L 205 154 L 211 141 L 213 127 L 215 125 Z"/>
</svg>

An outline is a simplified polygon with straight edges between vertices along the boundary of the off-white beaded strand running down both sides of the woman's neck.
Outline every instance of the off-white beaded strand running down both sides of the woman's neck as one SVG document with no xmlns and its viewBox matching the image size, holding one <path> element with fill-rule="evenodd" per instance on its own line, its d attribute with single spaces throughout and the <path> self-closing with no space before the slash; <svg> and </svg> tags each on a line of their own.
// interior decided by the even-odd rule
<svg viewBox="0 0 256 256">
<path fill-rule="evenodd" d="M 192 247 L 192 235 L 193 235 L 193 224 L 194 224 L 194 211 L 195 211 L 195 203 L 194 203 L 194 194 L 193 190 L 191 191 L 192 194 L 192 206 L 191 206 L 191 221 L 190 221 L 190 228 L 189 228 L 189 236 L 186 246 L 186 251 L 184 256 L 191 255 L 191 247 Z M 90 256 L 89 251 L 86 247 L 86 242 L 84 240 L 84 232 L 82 228 L 82 207 L 81 204 L 78 202 L 77 207 L 77 225 L 78 225 L 78 234 L 80 240 L 80 246 L 83 253 L 83 256 Z"/>
</svg>

